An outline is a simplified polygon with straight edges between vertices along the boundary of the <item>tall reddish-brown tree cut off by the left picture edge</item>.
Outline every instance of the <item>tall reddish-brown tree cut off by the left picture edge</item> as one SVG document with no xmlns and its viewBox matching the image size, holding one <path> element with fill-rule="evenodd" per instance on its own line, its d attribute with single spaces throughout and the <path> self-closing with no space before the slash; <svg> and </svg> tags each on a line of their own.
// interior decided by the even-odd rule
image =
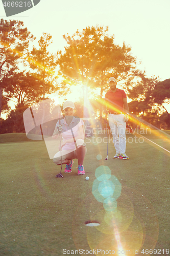
<svg viewBox="0 0 170 256">
<path fill-rule="evenodd" d="M 29 42 L 33 35 L 27 28 L 23 28 L 23 22 L 18 20 L 1 19 L 0 22 L 0 117 L 2 111 L 2 95 L 5 89 L 3 78 L 10 76 L 18 69 L 19 60 L 26 58 Z"/>
</svg>

